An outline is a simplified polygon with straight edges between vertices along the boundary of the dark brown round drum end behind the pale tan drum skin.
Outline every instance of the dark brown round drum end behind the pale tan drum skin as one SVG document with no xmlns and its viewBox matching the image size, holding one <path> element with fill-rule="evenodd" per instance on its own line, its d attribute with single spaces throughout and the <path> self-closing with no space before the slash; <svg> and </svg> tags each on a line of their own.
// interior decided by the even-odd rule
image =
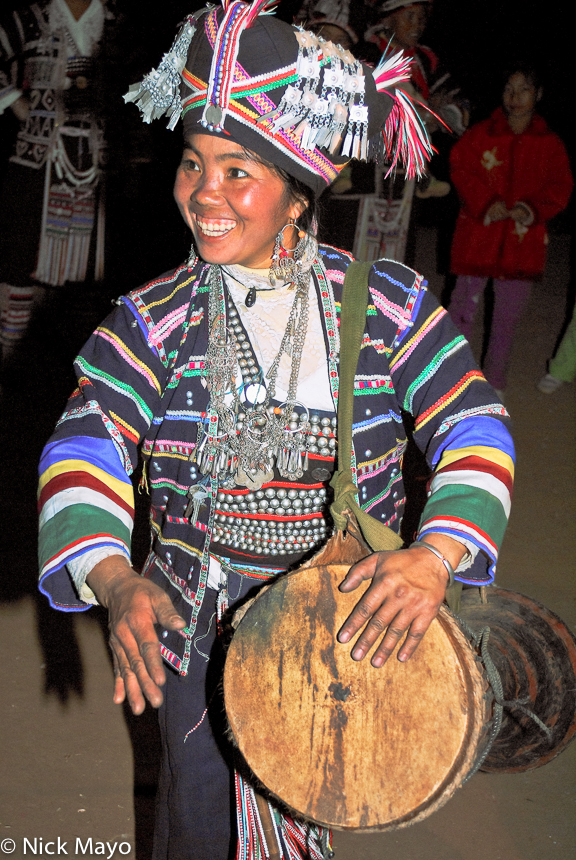
<svg viewBox="0 0 576 860">
<path fill-rule="evenodd" d="M 526 714 L 505 708 L 481 770 L 520 773 L 551 761 L 576 735 L 574 635 L 550 609 L 504 588 L 464 590 L 459 616 L 475 633 L 490 627 L 504 700 L 520 700 L 551 730 L 547 738 Z"/>
</svg>

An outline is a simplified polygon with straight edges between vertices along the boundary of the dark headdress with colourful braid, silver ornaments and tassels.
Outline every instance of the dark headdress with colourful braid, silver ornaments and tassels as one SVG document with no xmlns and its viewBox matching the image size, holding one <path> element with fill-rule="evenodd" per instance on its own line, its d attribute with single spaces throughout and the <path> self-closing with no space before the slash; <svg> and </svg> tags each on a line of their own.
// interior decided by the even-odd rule
<svg viewBox="0 0 576 860">
<path fill-rule="evenodd" d="M 172 48 L 124 97 L 145 122 L 163 115 L 185 135 L 219 134 L 282 167 L 316 193 L 351 159 L 383 157 L 422 173 L 428 136 L 399 88 L 410 59 L 376 69 L 271 14 L 269 0 L 222 0 L 189 15 Z"/>
</svg>

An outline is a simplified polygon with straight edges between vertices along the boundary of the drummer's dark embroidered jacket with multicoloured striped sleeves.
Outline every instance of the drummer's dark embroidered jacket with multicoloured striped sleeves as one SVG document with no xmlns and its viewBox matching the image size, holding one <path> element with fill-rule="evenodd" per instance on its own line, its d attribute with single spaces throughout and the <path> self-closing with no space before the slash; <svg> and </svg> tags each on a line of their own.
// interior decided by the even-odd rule
<svg viewBox="0 0 576 860">
<path fill-rule="evenodd" d="M 337 325 L 350 257 L 320 247 L 313 269 L 328 373 L 338 397 Z M 196 481 L 190 462 L 208 392 L 209 266 L 180 267 L 122 297 L 76 359 L 79 387 L 40 465 L 40 588 L 53 606 L 85 609 L 67 561 L 94 547 L 130 553 L 130 475 L 141 449 L 151 493 L 152 551 L 145 575 L 169 593 L 188 626 L 162 652 L 185 674 L 202 604 L 218 487 L 192 526 L 184 516 Z M 510 507 L 513 446 L 508 415 L 464 338 L 400 263 L 377 261 L 355 378 L 353 447 L 359 502 L 396 531 L 404 508 L 402 410 L 434 469 L 420 535 L 440 531 L 480 552 L 460 578 L 489 582 Z"/>
</svg>

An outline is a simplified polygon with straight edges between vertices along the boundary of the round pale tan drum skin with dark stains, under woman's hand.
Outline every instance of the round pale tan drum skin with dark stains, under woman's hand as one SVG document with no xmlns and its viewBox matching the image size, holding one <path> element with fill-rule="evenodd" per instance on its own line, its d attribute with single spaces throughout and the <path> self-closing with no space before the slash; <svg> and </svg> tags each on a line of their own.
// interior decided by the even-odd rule
<svg viewBox="0 0 576 860">
<path fill-rule="evenodd" d="M 263 590 L 229 647 L 226 713 L 253 773 L 291 810 L 383 831 L 425 818 L 473 771 L 491 694 L 445 607 L 407 663 L 353 661 L 336 634 L 368 583 L 339 592 L 348 569 L 320 564 Z"/>
</svg>

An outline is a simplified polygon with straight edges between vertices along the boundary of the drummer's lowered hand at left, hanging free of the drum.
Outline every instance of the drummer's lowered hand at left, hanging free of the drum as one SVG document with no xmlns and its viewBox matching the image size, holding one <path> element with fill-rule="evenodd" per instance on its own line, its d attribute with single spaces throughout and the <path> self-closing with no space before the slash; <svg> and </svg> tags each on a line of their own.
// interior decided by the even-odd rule
<svg viewBox="0 0 576 860">
<path fill-rule="evenodd" d="M 159 708 L 166 673 L 154 625 L 182 630 L 186 622 L 168 595 L 136 573 L 123 556 L 105 558 L 90 571 L 86 583 L 108 610 L 114 702 L 119 705 L 127 698 L 134 714 L 143 712 L 146 699 Z"/>
</svg>

